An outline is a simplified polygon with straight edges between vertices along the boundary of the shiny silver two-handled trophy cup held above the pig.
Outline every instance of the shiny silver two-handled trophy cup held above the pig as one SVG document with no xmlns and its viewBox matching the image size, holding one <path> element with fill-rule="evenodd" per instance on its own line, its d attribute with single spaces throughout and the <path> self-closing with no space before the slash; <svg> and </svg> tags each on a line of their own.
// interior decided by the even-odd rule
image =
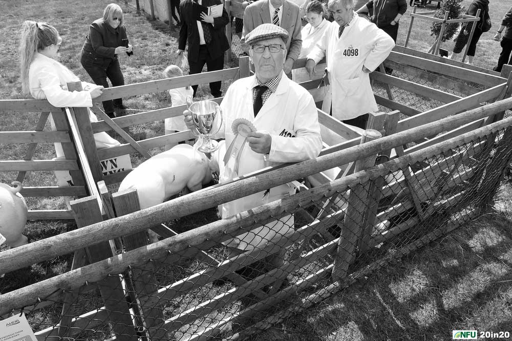
<svg viewBox="0 0 512 341">
<path fill-rule="evenodd" d="M 211 140 L 210 136 L 217 134 L 221 129 L 221 107 L 216 102 L 210 100 L 193 102 L 191 96 L 187 97 L 187 106 L 199 134 L 194 131 L 192 133 L 202 137 L 203 142 L 198 147 L 198 150 L 203 153 L 215 152 L 219 148 L 219 144 L 217 141 Z"/>
</svg>

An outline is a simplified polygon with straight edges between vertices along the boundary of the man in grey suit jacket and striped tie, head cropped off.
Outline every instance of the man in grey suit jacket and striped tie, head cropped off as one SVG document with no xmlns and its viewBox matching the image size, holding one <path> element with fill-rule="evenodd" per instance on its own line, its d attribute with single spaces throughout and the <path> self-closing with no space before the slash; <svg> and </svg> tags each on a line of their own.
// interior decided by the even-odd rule
<svg viewBox="0 0 512 341">
<path fill-rule="evenodd" d="M 302 22 L 300 9 L 297 5 L 289 0 L 259 0 L 250 4 L 245 8 L 244 29 L 240 41 L 242 48 L 248 54 L 250 46 L 245 44 L 245 36 L 261 24 L 272 24 L 276 9 L 279 9 L 279 26 L 288 31 L 289 34 L 286 41 L 286 51 L 288 51 L 288 54 L 283 66 L 283 71 L 289 74 L 293 61 L 298 58 L 302 49 Z"/>
</svg>

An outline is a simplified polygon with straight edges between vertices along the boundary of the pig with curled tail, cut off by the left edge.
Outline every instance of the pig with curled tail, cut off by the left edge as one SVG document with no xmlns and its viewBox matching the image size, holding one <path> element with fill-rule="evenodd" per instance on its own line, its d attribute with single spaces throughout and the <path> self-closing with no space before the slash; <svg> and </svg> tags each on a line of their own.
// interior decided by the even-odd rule
<svg viewBox="0 0 512 341">
<path fill-rule="evenodd" d="M 19 181 L 12 183 L 14 187 L 0 183 L 0 234 L 11 247 L 28 243 L 23 235 L 27 223 L 28 207 L 25 199 L 18 192 L 22 189 Z"/>
</svg>

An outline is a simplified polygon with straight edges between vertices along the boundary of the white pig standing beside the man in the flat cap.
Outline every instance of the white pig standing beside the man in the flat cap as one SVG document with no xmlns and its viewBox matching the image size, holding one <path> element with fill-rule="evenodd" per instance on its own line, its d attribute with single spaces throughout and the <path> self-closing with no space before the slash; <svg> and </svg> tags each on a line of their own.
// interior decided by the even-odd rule
<svg viewBox="0 0 512 341">
<path fill-rule="evenodd" d="M 210 161 L 204 153 L 194 151 L 188 144 L 178 144 L 170 150 L 142 162 L 119 185 L 118 191 L 137 189 L 140 208 L 155 206 L 185 191 L 196 191 L 211 181 L 212 172 L 218 172 L 217 161 Z M 152 242 L 157 236 L 150 232 Z"/>
</svg>

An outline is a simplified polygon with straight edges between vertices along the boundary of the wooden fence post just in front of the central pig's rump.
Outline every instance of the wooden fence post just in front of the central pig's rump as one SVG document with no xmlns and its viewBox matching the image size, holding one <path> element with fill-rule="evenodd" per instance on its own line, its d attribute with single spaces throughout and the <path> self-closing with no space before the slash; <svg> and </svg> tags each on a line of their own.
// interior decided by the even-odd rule
<svg viewBox="0 0 512 341">
<path fill-rule="evenodd" d="M 112 195 L 112 201 L 114 203 L 114 209 L 117 217 L 140 210 L 139 197 L 137 195 L 137 190 L 135 189 L 123 193 L 114 193 Z M 124 236 L 122 240 L 126 251 L 146 246 L 146 231 L 140 231 L 133 233 L 133 235 L 130 236 Z M 151 298 L 151 295 L 156 292 L 158 288 L 158 282 L 155 278 L 154 272 L 154 263 L 148 260 L 145 265 L 133 268 L 131 271 L 133 288 L 138 296 L 140 309 L 142 310 L 145 325 L 148 327 L 147 332 L 151 339 L 152 334 L 155 332 L 151 327 L 157 326 L 165 321 L 162 307 L 144 306 L 144 303 Z"/>
</svg>

